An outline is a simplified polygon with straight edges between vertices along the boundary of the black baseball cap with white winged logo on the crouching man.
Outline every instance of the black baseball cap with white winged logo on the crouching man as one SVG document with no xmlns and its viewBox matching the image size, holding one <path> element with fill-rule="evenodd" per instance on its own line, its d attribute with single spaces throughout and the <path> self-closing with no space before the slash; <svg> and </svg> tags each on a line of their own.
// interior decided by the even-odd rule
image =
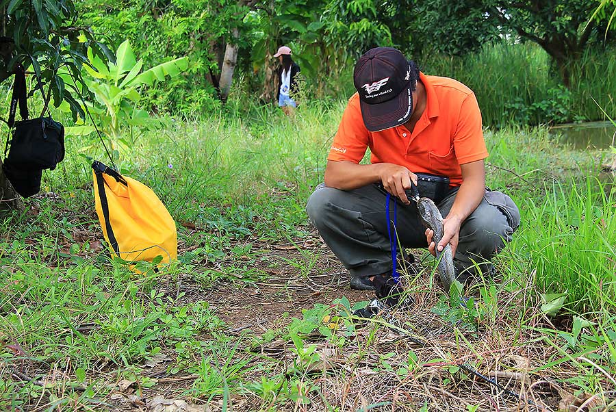
<svg viewBox="0 0 616 412">
<path fill-rule="evenodd" d="M 353 83 L 366 129 L 381 131 L 411 118 L 411 65 L 399 50 L 376 47 L 365 52 L 355 64 Z"/>
</svg>

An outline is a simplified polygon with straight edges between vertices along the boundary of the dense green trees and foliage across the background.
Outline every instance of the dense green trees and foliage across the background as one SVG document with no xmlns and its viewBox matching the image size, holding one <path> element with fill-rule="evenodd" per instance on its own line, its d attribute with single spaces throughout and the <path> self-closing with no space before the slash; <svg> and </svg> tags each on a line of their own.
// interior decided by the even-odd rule
<svg viewBox="0 0 616 412">
<path fill-rule="evenodd" d="M 227 44 L 237 48 L 233 81 L 257 104 L 272 103 L 278 64 L 272 55 L 282 44 L 302 68 L 305 99 L 348 96 L 357 56 L 388 45 L 426 73 L 467 83 L 485 122 L 502 126 L 603 118 L 591 96 L 614 112 L 616 36 L 607 30 L 614 5 L 591 18 L 597 6 L 591 0 L 86 0 L 77 10 L 99 40 L 113 48 L 129 39 L 147 64 L 189 58 L 188 75 L 149 88 L 154 111 L 199 116 L 218 109 Z"/>
</svg>

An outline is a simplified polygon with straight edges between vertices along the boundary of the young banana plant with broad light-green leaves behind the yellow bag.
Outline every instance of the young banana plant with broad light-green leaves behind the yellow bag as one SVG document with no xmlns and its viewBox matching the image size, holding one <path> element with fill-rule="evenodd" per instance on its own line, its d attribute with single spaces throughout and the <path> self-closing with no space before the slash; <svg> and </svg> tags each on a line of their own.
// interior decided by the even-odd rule
<svg viewBox="0 0 616 412">
<path fill-rule="evenodd" d="M 83 103 L 109 140 L 112 150 L 115 153 L 127 151 L 142 131 L 159 124 L 159 120 L 139 107 L 140 90 L 157 81 L 181 75 L 188 68 L 188 58 L 180 57 L 143 70 L 143 61 L 137 60 L 128 40 L 118 47 L 115 63 L 105 62 L 92 49 L 88 49 L 87 54 L 91 66 L 84 65 L 82 75 L 94 101 Z M 60 76 L 64 81 L 70 81 L 68 72 Z M 86 136 L 95 131 L 94 125 L 86 125 L 85 119 L 79 119 L 75 127 L 66 128 L 68 136 Z M 81 151 L 88 151 L 92 146 Z"/>
</svg>

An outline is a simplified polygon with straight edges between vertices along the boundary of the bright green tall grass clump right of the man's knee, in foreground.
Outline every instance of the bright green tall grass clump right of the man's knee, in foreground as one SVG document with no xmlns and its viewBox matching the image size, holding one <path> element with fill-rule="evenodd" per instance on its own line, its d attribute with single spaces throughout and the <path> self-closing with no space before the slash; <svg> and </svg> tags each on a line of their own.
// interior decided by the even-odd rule
<svg viewBox="0 0 616 412">
<path fill-rule="evenodd" d="M 553 183 L 543 199 L 526 198 L 526 224 L 511 244 L 530 261 L 539 289 L 567 294 L 575 313 L 616 310 L 616 213 L 604 189 L 588 177 Z"/>
</svg>

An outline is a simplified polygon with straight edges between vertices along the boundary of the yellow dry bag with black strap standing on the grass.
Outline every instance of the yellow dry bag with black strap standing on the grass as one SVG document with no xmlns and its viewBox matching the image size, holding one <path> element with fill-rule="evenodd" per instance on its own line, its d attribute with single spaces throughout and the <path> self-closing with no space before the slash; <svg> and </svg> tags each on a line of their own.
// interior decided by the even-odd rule
<svg viewBox="0 0 616 412">
<path fill-rule="evenodd" d="M 92 164 L 94 201 L 112 256 L 129 263 L 177 258 L 177 230 L 165 205 L 143 183 Z"/>
</svg>

